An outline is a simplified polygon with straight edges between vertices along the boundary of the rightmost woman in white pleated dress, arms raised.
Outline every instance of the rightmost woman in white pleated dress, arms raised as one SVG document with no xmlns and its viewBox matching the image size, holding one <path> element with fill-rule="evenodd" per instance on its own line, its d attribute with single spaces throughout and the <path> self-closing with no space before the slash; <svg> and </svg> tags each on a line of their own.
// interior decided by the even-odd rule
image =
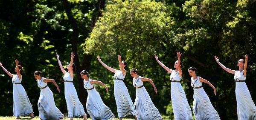
<svg viewBox="0 0 256 120">
<path fill-rule="evenodd" d="M 256 107 L 253 103 L 250 91 L 246 86 L 246 69 L 248 63 L 248 55 L 244 56 L 244 59 L 240 59 L 237 62 L 239 70 L 231 70 L 225 67 L 219 62 L 218 57 L 214 56 L 216 62 L 221 66 L 225 71 L 234 74 L 234 79 L 236 81 L 236 104 L 237 104 L 237 117 L 238 120 L 256 120 Z"/>
</svg>

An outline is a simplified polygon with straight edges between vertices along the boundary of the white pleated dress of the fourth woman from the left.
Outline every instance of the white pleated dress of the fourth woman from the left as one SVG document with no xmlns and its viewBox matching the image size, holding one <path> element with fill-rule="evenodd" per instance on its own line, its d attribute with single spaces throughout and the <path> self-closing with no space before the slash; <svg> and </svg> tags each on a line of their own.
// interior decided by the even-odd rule
<svg viewBox="0 0 256 120">
<path fill-rule="evenodd" d="M 103 103 L 93 84 L 90 84 L 90 80 L 84 80 L 84 89 L 88 92 L 86 109 L 92 120 L 108 120 L 115 117 L 108 106 Z"/>
</svg>

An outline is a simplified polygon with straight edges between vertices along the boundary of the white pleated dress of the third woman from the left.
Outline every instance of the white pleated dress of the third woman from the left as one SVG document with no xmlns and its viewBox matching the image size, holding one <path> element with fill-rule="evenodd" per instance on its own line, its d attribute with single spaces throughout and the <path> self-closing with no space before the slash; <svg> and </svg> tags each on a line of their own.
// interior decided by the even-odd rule
<svg viewBox="0 0 256 120">
<path fill-rule="evenodd" d="M 65 99 L 67 102 L 67 114 L 68 117 L 81 117 L 86 114 L 84 112 L 84 107 L 77 96 L 76 88 L 73 84 L 73 77 L 71 77 L 70 72 L 65 72 L 63 77 L 65 85 Z"/>
</svg>

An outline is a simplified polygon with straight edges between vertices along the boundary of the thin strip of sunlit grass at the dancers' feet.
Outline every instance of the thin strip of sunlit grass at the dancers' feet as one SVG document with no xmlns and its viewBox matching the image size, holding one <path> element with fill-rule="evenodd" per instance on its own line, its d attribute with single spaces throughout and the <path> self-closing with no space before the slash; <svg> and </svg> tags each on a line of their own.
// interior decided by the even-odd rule
<svg viewBox="0 0 256 120">
<path fill-rule="evenodd" d="M 0 120 L 15 120 L 16 117 L 12 116 L 0 116 Z M 20 120 L 38 120 L 39 117 L 38 116 L 35 116 L 35 118 L 31 119 L 29 116 L 26 116 L 26 117 L 20 117 Z M 49 120 L 49 119 L 47 119 Z M 64 119 L 62 120 L 69 120 L 68 117 L 64 117 Z M 83 120 L 83 118 L 73 118 L 73 120 Z M 90 118 L 88 118 L 87 120 L 92 120 Z M 112 120 L 119 120 L 117 118 L 115 119 L 112 119 Z M 134 120 L 134 119 L 122 119 L 122 120 Z"/>
</svg>

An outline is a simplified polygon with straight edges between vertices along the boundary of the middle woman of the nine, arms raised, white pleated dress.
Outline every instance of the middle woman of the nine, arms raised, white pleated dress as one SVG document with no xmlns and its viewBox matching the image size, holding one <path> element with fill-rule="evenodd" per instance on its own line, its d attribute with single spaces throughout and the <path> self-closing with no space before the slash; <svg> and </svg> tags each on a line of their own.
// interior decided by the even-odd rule
<svg viewBox="0 0 256 120">
<path fill-rule="evenodd" d="M 109 66 L 107 66 L 105 63 L 103 63 L 99 56 L 98 60 L 99 62 L 109 71 L 112 71 L 115 73 L 114 75 L 114 95 L 116 99 L 116 106 L 117 106 L 117 113 L 119 120 L 122 120 L 122 117 L 125 117 L 127 115 L 134 115 L 135 116 L 135 109 L 133 106 L 133 103 L 131 101 L 131 97 L 129 95 L 128 89 L 125 86 L 124 79 L 126 74 L 126 68 L 127 63 L 125 61 L 121 61 L 121 56 L 118 55 L 118 61 L 119 61 L 119 70 L 113 69 Z M 135 120 L 136 120 L 135 116 Z"/>
</svg>

